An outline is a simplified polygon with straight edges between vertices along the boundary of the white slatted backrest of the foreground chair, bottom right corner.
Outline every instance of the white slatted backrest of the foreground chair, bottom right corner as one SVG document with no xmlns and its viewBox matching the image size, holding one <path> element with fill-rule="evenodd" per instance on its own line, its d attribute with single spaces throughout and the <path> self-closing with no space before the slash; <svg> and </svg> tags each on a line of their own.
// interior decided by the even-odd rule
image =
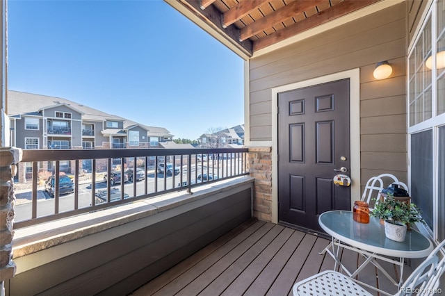
<svg viewBox="0 0 445 296">
<path fill-rule="evenodd" d="M 437 295 L 439 279 L 445 271 L 445 245 L 443 240 L 431 254 L 416 268 L 403 283 L 396 294 L 401 295 Z"/>
</svg>

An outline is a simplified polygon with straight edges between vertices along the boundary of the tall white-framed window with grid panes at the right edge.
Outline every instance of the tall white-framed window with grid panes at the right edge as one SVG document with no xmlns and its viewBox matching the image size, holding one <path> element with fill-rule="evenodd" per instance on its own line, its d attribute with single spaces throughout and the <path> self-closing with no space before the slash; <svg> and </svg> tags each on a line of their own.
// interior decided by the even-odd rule
<svg viewBox="0 0 445 296">
<path fill-rule="evenodd" d="M 445 238 L 444 3 L 434 1 L 407 60 L 410 195 L 439 240 Z"/>
</svg>

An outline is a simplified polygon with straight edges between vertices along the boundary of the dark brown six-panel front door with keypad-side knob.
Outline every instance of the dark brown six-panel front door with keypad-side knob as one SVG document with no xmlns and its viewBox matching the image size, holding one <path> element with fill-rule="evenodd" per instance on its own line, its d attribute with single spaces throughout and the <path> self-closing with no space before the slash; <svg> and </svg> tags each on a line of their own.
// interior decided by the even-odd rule
<svg viewBox="0 0 445 296">
<path fill-rule="evenodd" d="M 278 94 L 278 219 L 321 231 L 318 215 L 350 209 L 349 79 Z M 341 167 L 345 173 L 334 171 Z"/>
</svg>

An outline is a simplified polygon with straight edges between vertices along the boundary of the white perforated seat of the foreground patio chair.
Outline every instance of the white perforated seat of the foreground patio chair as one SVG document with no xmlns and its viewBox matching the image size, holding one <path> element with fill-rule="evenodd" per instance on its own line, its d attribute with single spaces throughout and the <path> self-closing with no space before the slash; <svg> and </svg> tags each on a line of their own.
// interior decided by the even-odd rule
<svg viewBox="0 0 445 296">
<path fill-rule="evenodd" d="M 293 285 L 293 295 L 372 295 L 340 272 L 326 270 Z"/>
</svg>

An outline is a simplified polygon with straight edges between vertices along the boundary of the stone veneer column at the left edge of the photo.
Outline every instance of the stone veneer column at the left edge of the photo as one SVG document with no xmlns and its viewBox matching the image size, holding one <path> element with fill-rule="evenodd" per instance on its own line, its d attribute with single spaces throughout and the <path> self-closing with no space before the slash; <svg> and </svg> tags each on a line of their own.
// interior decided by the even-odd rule
<svg viewBox="0 0 445 296">
<path fill-rule="evenodd" d="M 12 279 L 15 274 L 13 262 L 14 180 L 22 160 L 22 149 L 0 147 L 0 283 Z"/>
</svg>

